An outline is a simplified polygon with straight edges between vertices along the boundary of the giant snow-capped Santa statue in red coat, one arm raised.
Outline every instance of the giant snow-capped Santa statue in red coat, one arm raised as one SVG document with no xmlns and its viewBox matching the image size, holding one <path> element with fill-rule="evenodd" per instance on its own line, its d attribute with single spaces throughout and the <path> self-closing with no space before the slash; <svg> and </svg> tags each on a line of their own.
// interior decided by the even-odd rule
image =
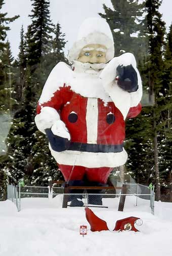
<svg viewBox="0 0 172 256">
<path fill-rule="evenodd" d="M 65 181 L 105 185 L 114 167 L 124 165 L 125 118 L 141 111 L 142 83 L 132 53 L 114 57 L 113 36 L 102 18 L 86 19 L 68 55 L 42 90 L 36 126 Z M 76 193 L 76 192 L 75 192 Z M 82 205 L 74 198 L 71 206 Z"/>
</svg>

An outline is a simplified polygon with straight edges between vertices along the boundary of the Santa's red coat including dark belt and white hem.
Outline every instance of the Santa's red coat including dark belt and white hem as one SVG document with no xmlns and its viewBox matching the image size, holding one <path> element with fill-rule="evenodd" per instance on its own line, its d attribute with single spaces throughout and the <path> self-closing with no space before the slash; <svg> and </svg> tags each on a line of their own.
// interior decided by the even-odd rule
<svg viewBox="0 0 172 256">
<path fill-rule="evenodd" d="M 59 164 L 72 165 L 75 162 L 75 165 L 86 167 L 115 167 L 125 163 L 125 122 L 112 101 L 105 104 L 101 99 L 83 97 L 64 84 L 50 101 L 38 104 L 37 114 L 42 107 L 52 107 L 59 112 L 74 143 L 71 146 L 74 148 L 64 152 L 55 152 L 50 146 Z M 134 117 L 140 110 L 139 105 L 131 108 L 128 114 Z M 82 155 L 77 157 L 78 153 Z M 75 158 L 80 160 L 76 162 Z"/>
</svg>

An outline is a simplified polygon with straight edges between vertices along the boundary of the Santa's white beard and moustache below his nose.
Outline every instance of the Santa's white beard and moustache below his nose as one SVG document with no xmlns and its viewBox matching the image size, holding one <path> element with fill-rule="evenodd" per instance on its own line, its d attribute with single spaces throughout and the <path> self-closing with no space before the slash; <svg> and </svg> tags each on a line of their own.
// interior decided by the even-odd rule
<svg viewBox="0 0 172 256">
<path fill-rule="evenodd" d="M 107 63 L 83 63 L 77 60 L 73 61 L 75 72 L 78 73 L 87 73 L 92 75 L 97 75 L 99 72 L 104 69 L 107 65 Z"/>
</svg>

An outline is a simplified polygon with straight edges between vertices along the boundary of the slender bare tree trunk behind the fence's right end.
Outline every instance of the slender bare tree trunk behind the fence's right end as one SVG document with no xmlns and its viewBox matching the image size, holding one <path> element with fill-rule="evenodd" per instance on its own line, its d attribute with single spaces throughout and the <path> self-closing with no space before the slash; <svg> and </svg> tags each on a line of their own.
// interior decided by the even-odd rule
<svg viewBox="0 0 172 256">
<path fill-rule="evenodd" d="M 159 163 L 158 163 L 158 141 L 157 141 L 157 132 L 156 132 L 156 120 L 155 120 L 155 111 L 153 113 L 154 121 L 154 163 L 155 163 L 155 184 L 156 184 L 156 200 L 161 200 L 161 190 L 160 190 L 160 177 L 159 177 Z"/>
</svg>

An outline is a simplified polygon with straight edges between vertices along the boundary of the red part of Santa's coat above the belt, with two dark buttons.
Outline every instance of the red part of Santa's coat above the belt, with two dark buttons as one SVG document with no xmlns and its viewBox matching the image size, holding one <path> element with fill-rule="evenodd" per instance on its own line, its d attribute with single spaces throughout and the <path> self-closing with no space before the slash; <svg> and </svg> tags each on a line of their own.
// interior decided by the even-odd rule
<svg viewBox="0 0 172 256">
<path fill-rule="evenodd" d="M 94 104 L 94 106 L 90 106 Z M 101 99 L 82 97 L 70 89 L 61 87 L 51 101 L 37 106 L 37 114 L 41 107 L 53 107 L 60 111 L 61 120 L 66 124 L 72 142 L 94 143 L 104 145 L 121 145 L 125 138 L 125 122 L 120 111 L 113 102 L 105 106 Z M 89 107 L 91 111 L 89 111 Z M 73 119 L 72 119 L 73 115 Z M 94 122 L 89 123 L 90 116 Z M 108 118 L 110 116 L 111 118 Z M 111 119 L 111 120 L 110 120 Z M 92 138 L 89 138 L 89 131 Z"/>
</svg>

